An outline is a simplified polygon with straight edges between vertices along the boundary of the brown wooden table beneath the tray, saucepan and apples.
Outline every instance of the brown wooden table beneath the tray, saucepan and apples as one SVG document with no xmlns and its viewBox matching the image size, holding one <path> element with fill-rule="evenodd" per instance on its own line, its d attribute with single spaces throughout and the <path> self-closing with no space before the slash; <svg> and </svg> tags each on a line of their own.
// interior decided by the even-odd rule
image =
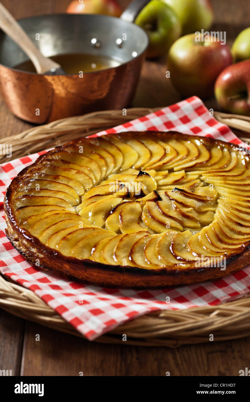
<svg viewBox="0 0 250 402">
<path fill-rule="evenodd" d="M 64 12 L 70 0 L 2 0 L 15 18 Z M 120 0 L 122 6 L 128 0 Z M 249 0 L 212 0 L 213 30 L 226 31 L 227 42 L 249 25 Z M 248 13 L 247 13 L 248 11 Z M 165 78 L 165 61 L 145 63 L 132 106 L 167 106 L 180 100 Z M 218 110 L 215 100 L 206 101 Z M 29 127 L 12 116 L 0 100 L 0 138 Z M 132 347 L 102 345 L 50 330 L 0 310 L 0 369 L 13 375 L 238 375 L 249 367 L 249 338 L 203 345 Z M 40 341 L 36 341 L 36 334 Z"/>
</svg>

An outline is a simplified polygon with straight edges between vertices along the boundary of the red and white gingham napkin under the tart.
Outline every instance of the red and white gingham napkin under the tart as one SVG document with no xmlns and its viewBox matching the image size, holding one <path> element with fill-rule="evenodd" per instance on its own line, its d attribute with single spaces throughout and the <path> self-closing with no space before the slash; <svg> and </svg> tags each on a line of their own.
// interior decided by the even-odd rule
<svg viewBox="0 0 250 402">
<path fill-rule="evenodd" d="M 215 120 L 197 97 L 183 100 L 95 136 L 144 130 L 176 130 L 241 144 L 240 139 L 226 125 Z M 1 201 L 12 178 L 43 153 L 6 162 L 0 167 Z M 33 290 L 89 340 L 126 320 L 153 310 L 212 306 L 250 292 L 250 266 L 217 281 L 157 290 L 102 288 L 67 280 L 58 273 L 33 267 L 12 247 L 5 235 L 3 202 L 0 207 L 0 271 Z M 169 303 L 166 303 L 167 297 L 170 298 Z"/>
</svg>

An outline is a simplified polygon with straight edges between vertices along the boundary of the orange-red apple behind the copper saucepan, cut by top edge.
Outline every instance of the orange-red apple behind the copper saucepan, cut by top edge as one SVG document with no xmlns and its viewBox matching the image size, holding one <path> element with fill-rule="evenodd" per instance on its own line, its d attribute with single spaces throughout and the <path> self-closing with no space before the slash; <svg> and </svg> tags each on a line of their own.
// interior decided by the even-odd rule
<svg viewBox="0 0 250 402">
<path fill-rule="evenodd" d="M 120 17 L 122 9 L 115 0 L 74 0 L 66 12 L 70 14 L 104 14 Z"/>
</svg>

